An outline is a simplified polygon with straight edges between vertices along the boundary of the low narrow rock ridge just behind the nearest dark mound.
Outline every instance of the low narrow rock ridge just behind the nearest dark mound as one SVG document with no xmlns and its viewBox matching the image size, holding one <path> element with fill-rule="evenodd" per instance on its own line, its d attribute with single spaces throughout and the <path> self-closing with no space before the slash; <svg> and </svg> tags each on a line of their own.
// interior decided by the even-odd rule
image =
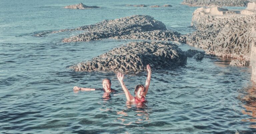
<svg viewBox="0 0 256 134">
<path fill-rule="evenodd" d="M 157 40 L 157 41 L 176 41 L 186 43 L 186 38 L 176 31 L 154 30 L 129 35 L 115 36 L 113 39 L 132 39 L 132 40 Z"/>
</svg>

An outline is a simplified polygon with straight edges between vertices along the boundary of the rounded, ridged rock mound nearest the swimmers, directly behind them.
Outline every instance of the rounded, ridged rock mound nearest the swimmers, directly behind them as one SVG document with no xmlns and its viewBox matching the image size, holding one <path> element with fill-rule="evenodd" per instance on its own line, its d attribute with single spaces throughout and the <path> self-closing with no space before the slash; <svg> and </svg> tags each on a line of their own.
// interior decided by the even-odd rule
<svg viewBox="0 0 256 134">
<path fill-rule="evenodd" d="M 131 42 L 72 68 L 75 71 L 143 71 L 181 66 L 187 56 L 177 45 L 163 42 Z"/>
</svg>

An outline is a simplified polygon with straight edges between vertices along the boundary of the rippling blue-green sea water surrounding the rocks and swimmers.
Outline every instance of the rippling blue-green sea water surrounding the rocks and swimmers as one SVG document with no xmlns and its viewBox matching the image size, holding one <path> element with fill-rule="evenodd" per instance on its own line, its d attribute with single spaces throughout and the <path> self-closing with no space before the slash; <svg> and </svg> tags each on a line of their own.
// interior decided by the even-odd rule
<svg viewBox="0 0 256 134">
<path fill-rule="evenodd" d="M 80 2 L 101 8 L 63 8 Z M 0 133 L 255 133 L 255 98 L 248 101 L 255 93 L 250 67 L 229 66 L 230 59 L 188 58 L 185 66 L 152 70 L 147 103 L 136 105 L 126 102 L 114 72 L 69 68 L 131 40 L 62 43 L 78 34 L 70 31 L 33 36 L 137 14 L 162 21 L 168 30 L 191 33 L 192 13 L 198 7 L 181 2 L 0 0 Z M 165 4 L 173 7 L 149 7 Z M 146 76 L 147 72 L 125 74 L 130 92 L 144 84 Z M 119 90 L 111 98 L 101 91 L 72 89 L 100 88 L 105 77 Z"/>
</svg>

